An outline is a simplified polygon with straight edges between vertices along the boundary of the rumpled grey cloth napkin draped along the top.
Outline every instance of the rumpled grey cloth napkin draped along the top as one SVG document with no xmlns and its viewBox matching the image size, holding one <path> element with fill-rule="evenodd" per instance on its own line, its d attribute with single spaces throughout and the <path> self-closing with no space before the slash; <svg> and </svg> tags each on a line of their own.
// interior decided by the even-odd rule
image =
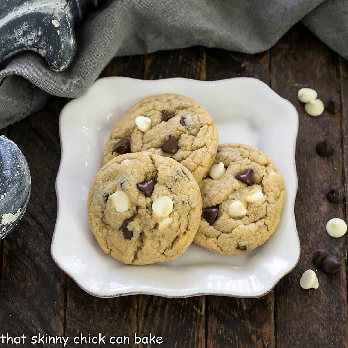
<svg viewBox="0 0 348 348">
<path fill-rule="evenodd" d="M 0 71 L 0 128 L 40 110 L 49 94 L 78 97 L 114 56 L 195 45 L 259 53 L 301 21 L 347 58 L 347 18 L 348 0 L 107 2 L 78 27 L 77 52 L 63 72 L 31 52 Z"/>
</svg>

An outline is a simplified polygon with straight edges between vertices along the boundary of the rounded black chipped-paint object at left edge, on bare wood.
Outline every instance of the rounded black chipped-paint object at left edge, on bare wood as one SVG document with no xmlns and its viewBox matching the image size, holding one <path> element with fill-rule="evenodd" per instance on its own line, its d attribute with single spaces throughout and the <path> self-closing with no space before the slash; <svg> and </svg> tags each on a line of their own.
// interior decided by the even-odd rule
<svg viewBox="0 0 348 348">
<path fill-rule="evenodd" d="M 21 220 L 30 198 L 28 163 L 17 145 L 0 136 L 0 239 Z"/>
</svg>

